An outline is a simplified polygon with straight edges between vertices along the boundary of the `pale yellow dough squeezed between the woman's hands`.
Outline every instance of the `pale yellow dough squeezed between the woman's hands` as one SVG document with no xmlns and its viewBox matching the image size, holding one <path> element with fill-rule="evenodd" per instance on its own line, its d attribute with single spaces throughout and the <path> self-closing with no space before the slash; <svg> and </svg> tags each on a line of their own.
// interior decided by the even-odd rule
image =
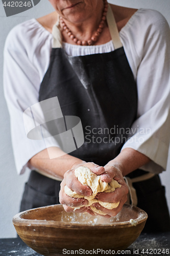
<svg viewBox="0 0 170 256">
<path fill-rule="evenodd" d="M 118 184 L 117 181 L 112 180 L 110 183 L 103 182 L 101 180 L 101 177 L 99 175 L 96 175 L 91 172 L 91 170 L 88 167 L 80 166 L 75 170 L 75 175 L 78 178 L 78 180 L 81 182 L 82 185 L 87 185 L 91 188 L 92 190 L 92 195 L 90 197 L 87 196 L 82 196 L 78 195 L 75 191 L 71 190 L 67 186 L 64 187 L 65 194 L 68 195 L 69 197 L 74 197 L 74 198 L 85 198 L 88 200 L 87 206 L 90 206 L 92 211 L 96 212 L 96 214 L 100 215 L 106 215 L 103 211 L 96 209 L 96 207 L 91 206 L 93 203 L 100 203 L 103 207 L 107 209 L 113 209 L 116 208 L 119 204 L 117 203 L 107 203 L 107 202 L 102 202 L 99 201 L 98 199 L 95 199 L 95 196 L 99 192 L 104 192 L 109 193 L 113 192 L 115 188 L 121 187 L 121 185 Z M 83 207 L 83 206 L 81 206 Z M 75 209 L 79 209 L 80 207 L 72 207 Z"/>
</svg>

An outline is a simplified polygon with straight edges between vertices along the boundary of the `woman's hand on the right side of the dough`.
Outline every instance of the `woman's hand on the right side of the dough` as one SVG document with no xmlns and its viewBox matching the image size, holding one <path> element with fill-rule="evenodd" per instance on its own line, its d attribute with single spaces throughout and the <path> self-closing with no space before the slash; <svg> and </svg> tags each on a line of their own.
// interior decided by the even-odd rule
<svg viewBox="0 0 170 256">
<path fill-rule="evenodd" d="M 120 202 L 120 203 L 116 208 L 112 210 L 104 208 L 99 203 L 95 203 L 95 207 L 105 212 L 105 214 L 109 216 L 116 216 L 118 212 L 122 209 L 124 203 L 126 203 L 127 201 L 127 195 L 128 195 L 129 189 L 123 178 L 122 172 L 118 167 L 107 164 L 104 166 L 104 168 L 105 168 L 105 172 L 101 174 L 101 180 L 109 183 L 111 182 L 112 179 L 114 179 L 121 185 L 121 187 L 116 188 L 115 191 L 111 193 L 105 193 L 105 192 L 98 193 L 98 195 L 96 195 L 95 198 L 102 202 L 109 202 L 109 203 Z"/>
</svg>

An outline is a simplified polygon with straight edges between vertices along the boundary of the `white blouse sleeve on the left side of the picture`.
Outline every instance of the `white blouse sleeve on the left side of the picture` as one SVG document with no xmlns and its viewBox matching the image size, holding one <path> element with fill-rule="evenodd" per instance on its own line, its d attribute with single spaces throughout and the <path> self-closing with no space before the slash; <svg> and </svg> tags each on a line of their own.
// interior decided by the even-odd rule
<svg viewBox="0 0 170 256">
<path fill-rule="evenodd" d="M 4 91 L 10 113 L 12 145 L 18 174 L 25 172 L 28 161 L 46 148 L 43 140 L 27 138 L 23 112 L 38 102 L 42 76 L 49 64 L 50 48 L 49 33 L 38 24 L 36 28 L 33 19 L 13 28 L 6 39 Z M 48 61 L 37 61 L 36 52 L 41 52 L 42 57 Z M 56 142 L 51 146 L 58 144 Z"/>
</svg>

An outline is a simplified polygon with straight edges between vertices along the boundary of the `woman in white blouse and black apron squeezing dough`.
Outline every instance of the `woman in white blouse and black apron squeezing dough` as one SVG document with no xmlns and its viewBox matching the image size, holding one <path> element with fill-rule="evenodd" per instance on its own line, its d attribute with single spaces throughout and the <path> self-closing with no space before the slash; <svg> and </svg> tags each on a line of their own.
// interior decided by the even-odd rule
<svg viewBox="0 0 170 256">
<path fill-rule="evenodd" d="M 85 199 L 75 200 L 64 193 L 67 185 L 80 195 L 91 194 L 74 175 L 75 168 L 83 165 L 103 181 L 114 178 L 122 185 L 114 193 L 96 197 L 104 202 L 120 201 L 117 208 L 108 210 L 96 204 L 97 209 L 115 216 L 127 201 L 128 185 L 123 177 L 127 176 L 129 184 L 129 178 L 139 177 L 133 186 L 137 205 L 149 215 L 145 231 L 170 230 L 157 175 L 166 168 L 169 145 L 170 36 L 165 19 L 156 11 L 108 6 L 103 0 L 50 3 L 54 13 L 19 25 L 6 42 L 5 92 L 11 120 L 17 117 L 21 123 L 23 111 L 57 96 L 63 115 L 80 117 L 84 135 L 88 129 L 90 137 L 85 136 L 84 144 L 70 154 L 64 154 L 53 141 L 48 147 L 58 157 L 49 159 L 43 142 L 27 139 L 24 128 L 14 120 L 17 168 L 21 172 L 26 166 L 32 169 L 21 210 L 58 203 L 64 177 L 60 190 L 64 209 L 84 205 L 77 211 L 93 214 Z M 101 143 L 92 137 L 99 129 Z"/>
</svg>

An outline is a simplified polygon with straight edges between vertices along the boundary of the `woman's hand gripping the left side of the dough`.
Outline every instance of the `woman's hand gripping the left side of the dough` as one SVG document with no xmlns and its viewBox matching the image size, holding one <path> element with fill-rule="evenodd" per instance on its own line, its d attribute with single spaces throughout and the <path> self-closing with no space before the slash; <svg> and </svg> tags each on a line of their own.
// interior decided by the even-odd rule
<svg viewBox="0 0 170 256">
<path fill-rule="evenodd" d="M 72 207 L 84 206 L 84 207 L 81 207 L 80 209 L 76 209 L 76 212 L 87 211 L 89 212 L 89 214 L 94 215 L 92 210 L 90 210 L 89 207 L 85 207 L 88 204 L 88 201 L 86 199 L 71 198 L 67 196 L 64 192 L 64 187 L 65 185 L 67 185 L 68 188 L 75 191 L 79 195 L 91 196 L 92 194 L 91 188 L 86 185 L 82 185 L 80 181 L 78 181 L 77 177 L 75 176 L 74 171 L 79 166 L 86 166 L 89 169 L 91 169 L 93 173 L 97 175 L 103 174 L 105 172 L 104 167 L 94 164 L 93 162 L 88 162 L 88 163 L 84 162 L 84 163 L 72 166 L 72 168 L 64 174 L 64 179 L 61 182 L 61 189 L 59 194 L 60 203 L 63 205 L 66 212 L 74 211 L 74 208 Z"/>
</svg>

